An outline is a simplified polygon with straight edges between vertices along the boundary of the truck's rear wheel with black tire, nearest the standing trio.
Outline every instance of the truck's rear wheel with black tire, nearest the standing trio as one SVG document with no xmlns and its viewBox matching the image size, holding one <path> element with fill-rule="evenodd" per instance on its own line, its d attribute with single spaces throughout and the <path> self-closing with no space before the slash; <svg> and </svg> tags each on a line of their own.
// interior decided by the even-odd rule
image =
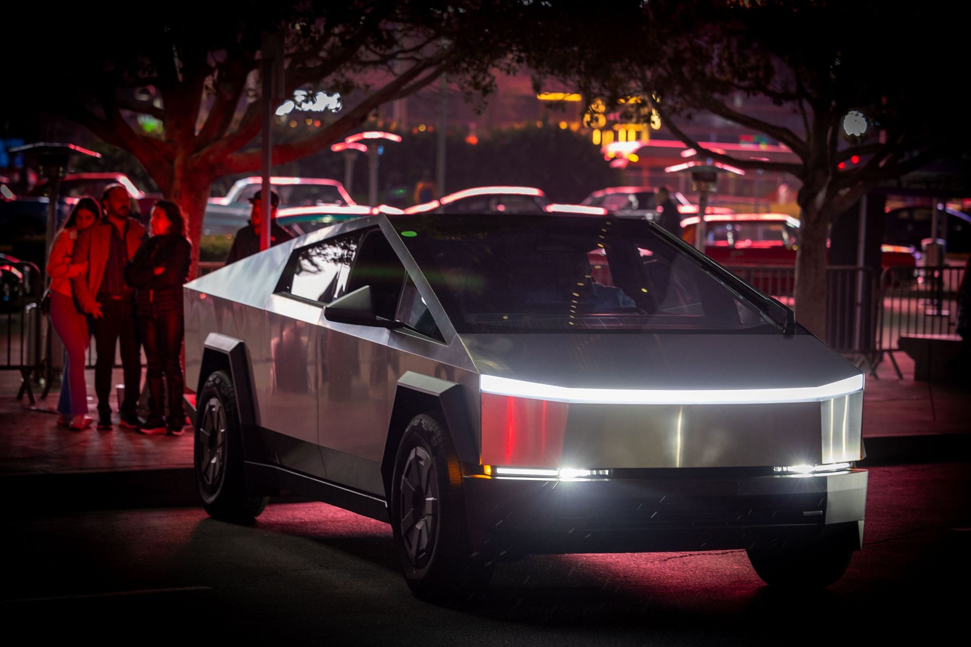
<svg viewBox="0 0 971 647">
<path fill-rule="evenodd" d="M 194 463 L 202 506 L 214 519 L 251 523 L 269 497 L 247 494 L 236 388 L 227 372 L 206 379 L 197 406 Z"/>
</svg>

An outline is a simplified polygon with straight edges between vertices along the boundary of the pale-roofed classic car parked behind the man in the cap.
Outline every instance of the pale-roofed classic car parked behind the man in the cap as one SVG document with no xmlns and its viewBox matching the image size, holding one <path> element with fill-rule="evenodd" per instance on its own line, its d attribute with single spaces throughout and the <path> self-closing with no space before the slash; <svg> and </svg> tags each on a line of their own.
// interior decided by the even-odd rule
<svg viewBox="0 0 971 647">
<path fill-rule="evenodd" d="M 232 235 L 250 219 L 250 199 L 262 186 L 263 178 L 243 178 L 225 196 L 210 198 L 202 220 L 203 235 Z M 280 207 L 318 207 L 353 205 L 344 184 L 329 178 L 270 178 L 280 194 Z"/>
</svg>

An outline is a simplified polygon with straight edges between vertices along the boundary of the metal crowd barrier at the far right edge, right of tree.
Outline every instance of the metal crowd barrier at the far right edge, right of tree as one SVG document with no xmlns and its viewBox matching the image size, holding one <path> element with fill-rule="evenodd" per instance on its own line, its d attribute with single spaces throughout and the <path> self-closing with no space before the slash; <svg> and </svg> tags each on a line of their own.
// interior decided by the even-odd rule
<svg viewBox="0 0 971 647">
<path fill-rule="evenodd" d="M 898 377 L 903 377 L 893 353 L 901 337 L 954 337 L 957 330 L 957 290 L 962 267 L 887 268 L 881 276 L 881 308 L 877 338 Z"/>
</svg>

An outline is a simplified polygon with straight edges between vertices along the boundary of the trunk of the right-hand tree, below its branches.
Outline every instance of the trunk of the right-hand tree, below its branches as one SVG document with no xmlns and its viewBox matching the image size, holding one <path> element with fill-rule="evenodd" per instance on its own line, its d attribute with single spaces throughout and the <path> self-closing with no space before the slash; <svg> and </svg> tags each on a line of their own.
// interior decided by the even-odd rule
<svg viewBox="0 0 971 647">
<path fill-rule="evenodd" d="M 802 201 L 800 201 L 802 202 Z M 795 258 L 796 320 L 820 339 L 826 336 L 828 214 L 812 200 L 800 204 L 799 249 Z"/>
</svg>

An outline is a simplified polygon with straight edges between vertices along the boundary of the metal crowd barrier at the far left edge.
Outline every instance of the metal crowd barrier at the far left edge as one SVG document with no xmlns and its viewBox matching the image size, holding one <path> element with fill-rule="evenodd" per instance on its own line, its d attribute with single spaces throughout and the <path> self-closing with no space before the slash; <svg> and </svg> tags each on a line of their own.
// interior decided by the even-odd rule
<svg viewBox="0 0 971 647">
<path fill-rule="evenodd" d="M 31 373 L 41 369 L 44 353 L 40 307 L 41 271 L 30 261 L 0 254 L 0 371 L 20 372 L 17 400 L 36 404 Z"/>
</svg>

